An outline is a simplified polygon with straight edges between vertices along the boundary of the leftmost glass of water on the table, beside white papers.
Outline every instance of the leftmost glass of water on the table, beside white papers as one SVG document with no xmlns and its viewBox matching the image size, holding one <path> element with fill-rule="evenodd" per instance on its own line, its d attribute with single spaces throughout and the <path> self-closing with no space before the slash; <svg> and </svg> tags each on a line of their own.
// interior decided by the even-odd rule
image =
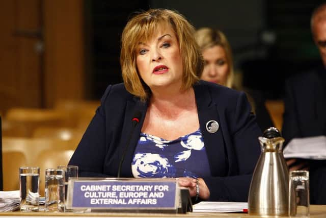
<svg viewBox="0 0 326 218">
<path fill-rule="evenodd" d="M 38 211 L 40 202 L 40 167 L 19 167 L 20 211 Z"/>
</svg>

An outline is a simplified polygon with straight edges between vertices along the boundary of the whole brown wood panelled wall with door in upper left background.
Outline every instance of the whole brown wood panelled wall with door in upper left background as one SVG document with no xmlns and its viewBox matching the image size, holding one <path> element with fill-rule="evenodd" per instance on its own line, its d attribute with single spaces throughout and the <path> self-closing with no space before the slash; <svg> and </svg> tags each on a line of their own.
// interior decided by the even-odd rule
<svg viewBox="0 0 326 218">
<path fill-rule="evenodd" d="M 83 99 L 83 0 L 0 0 L 0 111 Z"/>
</svg>

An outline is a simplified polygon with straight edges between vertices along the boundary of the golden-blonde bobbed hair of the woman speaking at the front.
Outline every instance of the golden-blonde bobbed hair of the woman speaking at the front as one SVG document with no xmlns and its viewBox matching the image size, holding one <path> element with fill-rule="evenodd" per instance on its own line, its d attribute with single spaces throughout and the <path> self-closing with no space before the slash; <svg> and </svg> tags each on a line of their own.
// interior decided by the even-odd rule
<svg viewBox="0 0 326 218">
<path fill-rule="evenodd" d="M 179 43 L 182 59 L 182 90 L 199 81 L 203 71 L 203 59 L 196 43 L 194 27 L 178 12 L 168 9 L 150 9 L 132 17 L 122 32 L 120 64 L 126 89 L 145 101 L 150 88 L 140 77 L 137 64 L 137 46 L 150 40 L 159 28 L 171 26 Z"/>
</svg>

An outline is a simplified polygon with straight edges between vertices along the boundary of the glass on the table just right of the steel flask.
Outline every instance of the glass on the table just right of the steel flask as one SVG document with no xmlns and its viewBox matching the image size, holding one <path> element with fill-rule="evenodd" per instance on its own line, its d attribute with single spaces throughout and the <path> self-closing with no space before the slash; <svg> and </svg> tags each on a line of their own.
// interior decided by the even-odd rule
<svg viewBox="0 0 326 218">
<path fill-rule="evenodd" d="M 289 215 L 309 216 L 309 172 L 291 171 L 289 180 Z"/>
</svg>

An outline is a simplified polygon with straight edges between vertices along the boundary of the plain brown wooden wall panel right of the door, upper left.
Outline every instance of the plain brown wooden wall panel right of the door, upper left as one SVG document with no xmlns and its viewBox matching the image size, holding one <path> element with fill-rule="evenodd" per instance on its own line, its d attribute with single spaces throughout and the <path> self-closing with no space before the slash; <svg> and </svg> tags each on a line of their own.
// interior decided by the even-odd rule
<svg viewBox="0 0 326 218">
<path fill-rule="evenodd" d="M 85 96 L 83 0 L 44 1 L 45 105 Z"/>
</svg>

